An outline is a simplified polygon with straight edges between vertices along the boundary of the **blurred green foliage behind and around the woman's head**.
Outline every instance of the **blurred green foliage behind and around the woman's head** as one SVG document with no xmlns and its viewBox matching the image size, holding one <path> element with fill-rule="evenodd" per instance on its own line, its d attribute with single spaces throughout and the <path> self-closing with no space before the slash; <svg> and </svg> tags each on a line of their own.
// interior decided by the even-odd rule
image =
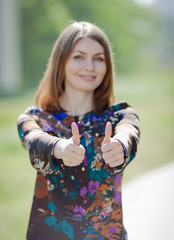
<svg viewBox="0 0 174 240">
<path fill-rule="evenodd" d="M 72 20 L 92 22 L 106 32 L 119 74 L 142 68 L 142 51 L 152 44 L 156 25 L 150 9 L 130 0 L 22 0 L 21 11 L 27 88 L 38 85 L 54 42 Z"/>
</svg>

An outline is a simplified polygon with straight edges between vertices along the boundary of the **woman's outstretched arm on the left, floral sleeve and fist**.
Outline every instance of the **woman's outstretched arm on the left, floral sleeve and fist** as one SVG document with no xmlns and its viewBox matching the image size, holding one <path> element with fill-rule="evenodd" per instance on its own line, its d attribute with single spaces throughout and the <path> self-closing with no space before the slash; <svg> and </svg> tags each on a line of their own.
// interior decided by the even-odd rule
<svg viewBox="0 0 174 240">
<path fill-rule="evenodd" d="M 40 111 L 35 108 L 28 109 L 18 119 L 19 136 L 23 147 L 29 150 L 32 166 L 46 174 L 58 174 L 65 171 L 66 166 L 78 166 L 85 153 L 85 149 L 80 145 L 80 139 L 78 139 L 79 146 L 77 146 L 77 143 L 75 144 L 77 137 L 75 138 L 75 136 L 70 139 L 62 139 L 44 132 L 43 126 L 40 127 L 43 125 L 44 119 L 39 121 L 37 112 Z M 41 114 L 43 118 L 47 116 Z M 47 131 L 54 132 L 49 125 Z"/>
</svg>

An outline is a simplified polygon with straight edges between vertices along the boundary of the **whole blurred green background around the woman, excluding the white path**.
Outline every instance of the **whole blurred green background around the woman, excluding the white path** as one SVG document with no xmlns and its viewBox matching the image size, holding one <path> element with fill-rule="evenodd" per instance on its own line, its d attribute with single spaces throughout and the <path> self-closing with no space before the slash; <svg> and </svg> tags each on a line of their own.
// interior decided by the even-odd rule
<svg viewBox="0 0 174 240">
<path fill-rule="evenodd" d="M 34 105 L 53 44 L 71 20 L 108 35 L 116 102 L 127 100 L 140 116 L 138 154 L 123 185 L 174 160 L 173 13 L 172 0 L 0 1 L 0 239 L 25 239 L 36 171 L 16 122 Z"/>
</svg>

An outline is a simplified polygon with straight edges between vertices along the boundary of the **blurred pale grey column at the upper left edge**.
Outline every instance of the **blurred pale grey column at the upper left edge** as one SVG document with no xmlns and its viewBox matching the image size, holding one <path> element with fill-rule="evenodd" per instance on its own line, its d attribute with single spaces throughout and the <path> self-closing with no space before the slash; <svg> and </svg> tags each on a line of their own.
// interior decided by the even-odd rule
<svg viewBox="0 0 174 240">
<path fill-rule="evenodd" d="M 0 1 L 0 97 L 14 94 L 22 79 L 19 0 Z"/>
</svg>

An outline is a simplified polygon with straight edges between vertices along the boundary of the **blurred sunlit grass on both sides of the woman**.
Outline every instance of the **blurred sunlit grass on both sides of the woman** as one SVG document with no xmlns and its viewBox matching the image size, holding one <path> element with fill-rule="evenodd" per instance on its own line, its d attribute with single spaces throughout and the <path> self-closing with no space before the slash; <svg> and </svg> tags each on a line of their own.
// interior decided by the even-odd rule
<svg viewBox="0 0 174 240">
<path fill-rule="evenodd" d="M 141 141 L 135 160 L 125 170 L 123 184 L 126 184 L 174 160 L 174 83 L 170 74 L 161 74 L 122 77 L 116 85 L 116 100 L 126 99 L 134 106 L 141 122 Z M 21 147 L 16 121 L 33 104 L 33 93 L 0 99 L 0 239 L 3 240 L 25 239 L 27 230 L 36 171 Z"/>
</svg>

